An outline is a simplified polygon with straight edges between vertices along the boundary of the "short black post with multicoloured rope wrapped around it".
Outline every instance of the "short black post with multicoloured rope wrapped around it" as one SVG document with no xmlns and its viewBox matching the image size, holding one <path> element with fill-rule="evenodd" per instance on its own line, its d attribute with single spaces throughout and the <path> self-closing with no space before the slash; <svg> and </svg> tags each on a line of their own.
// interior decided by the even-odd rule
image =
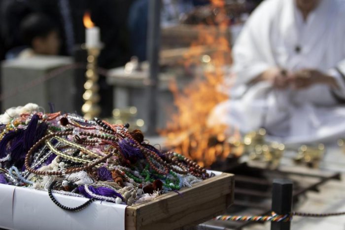
<svg viewBox="0 0 345 230">
<path fill-rule="evenodd" d="M 278 215 L 292 211 L 292 181 L 275 179 L 272 189 L 272 211 Z M 271 230 L 290 230 L 290 222 L 272 222 Z"/>
</svg>

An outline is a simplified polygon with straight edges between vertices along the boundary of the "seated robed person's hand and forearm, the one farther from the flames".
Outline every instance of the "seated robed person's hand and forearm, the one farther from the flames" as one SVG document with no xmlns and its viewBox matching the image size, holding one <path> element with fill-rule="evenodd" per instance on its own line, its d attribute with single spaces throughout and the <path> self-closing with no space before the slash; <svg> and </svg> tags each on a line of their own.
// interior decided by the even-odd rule
<svg viewBox="0 0 345 230">
<path fill-rule="evenodd" d="M 314 84 L 324 84 L 332 88 L 338 88 L 335 78 L 327 76 L 318 70 L 304 69 L 288 77 L 288 81 L 295 89 L 309 88 Z"/>
</svg>

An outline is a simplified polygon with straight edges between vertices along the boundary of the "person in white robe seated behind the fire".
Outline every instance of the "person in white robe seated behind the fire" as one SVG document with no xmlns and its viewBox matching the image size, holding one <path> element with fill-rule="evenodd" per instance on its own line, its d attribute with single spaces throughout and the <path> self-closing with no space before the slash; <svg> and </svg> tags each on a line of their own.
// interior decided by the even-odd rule
<svg viewBox="0 0 345 230">
<path fill-rule="evenodd" d="M 285 144 L 345 137 L 345 7 L 341 0 L 264 0 L 233 47 L 231 99 L 209 125 L 265 128 Z"/>
</svg>

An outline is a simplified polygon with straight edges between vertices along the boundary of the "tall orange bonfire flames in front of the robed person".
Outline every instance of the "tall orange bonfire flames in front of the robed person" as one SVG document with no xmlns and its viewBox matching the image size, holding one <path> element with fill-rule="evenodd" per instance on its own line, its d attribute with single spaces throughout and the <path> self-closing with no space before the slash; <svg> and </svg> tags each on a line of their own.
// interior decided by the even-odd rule
<svg viewBox="0 0 345 230">
<path fill-rule="evenodd" d="M 218 103 L 227 100 L 228 95 L 219 90 L 223 84 L 224 66 L 231 64 L 231 52 L 228 39 L 229 23 L 224 12 L 224 1 L 216 0 L 213 6 L 217 9 L 215 21 L 212 25 L 200 25 L 199 39 L 190 47 L 184 62 L 187 66 L 199 66 L 203 69 L 200 76 L 179 90 L 176 83 L 171 84 L 174 104 L 178 112 L 168 123 L 168 146 L 177 153 L 182 153 L 201 166 L 210 166 L 217 159 L 223 159 L 230 153 L 230 145 L 226 143 L 225 126 L 207 127 L 207 117 Z M 215 28 L 214 33 L 203 33 L 206 27 Z M 209 30 L 208 30 L 209 31 Z M 200 46 L 214 48 L 212 54 L 203 55 L 201 60 L 188 58 L 199 52 Z"/>
</svg>

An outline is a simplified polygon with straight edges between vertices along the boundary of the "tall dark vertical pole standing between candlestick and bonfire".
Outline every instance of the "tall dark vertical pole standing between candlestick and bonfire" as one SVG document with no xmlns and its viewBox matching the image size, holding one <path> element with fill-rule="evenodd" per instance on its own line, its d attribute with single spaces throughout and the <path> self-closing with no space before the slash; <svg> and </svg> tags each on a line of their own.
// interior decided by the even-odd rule
<svg viewBox="0 0 345 230">
<path fill-rule="evenodd" d="M 159 49 L 162 0 L 149 0 L 147 28 L 147 59 L 150 64 L 147 87 L 147 134 L 156 134 L 157 126 L 157 85 L 159 75 Z"/>
</svg>

